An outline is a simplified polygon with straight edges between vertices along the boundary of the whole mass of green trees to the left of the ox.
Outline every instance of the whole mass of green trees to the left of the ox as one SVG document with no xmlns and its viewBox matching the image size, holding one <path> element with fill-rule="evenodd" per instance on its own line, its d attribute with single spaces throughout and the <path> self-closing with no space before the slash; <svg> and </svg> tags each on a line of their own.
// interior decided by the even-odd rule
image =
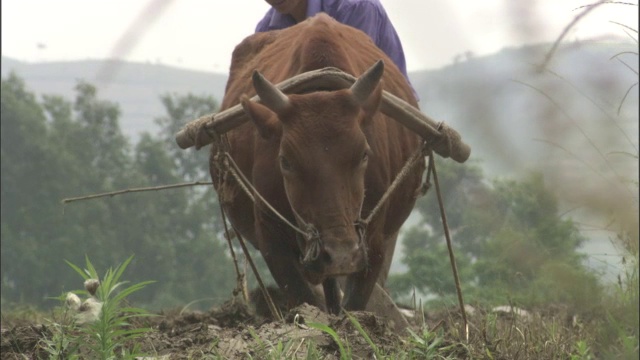
<svg viewBox="0 0 640 360">
<path fill-rule="evenodd" d="M 78 83 L 73 102 L 54 95 L 38 101 L 11 74 L 2 79 L 1 96 L 3 309 L 48 306 L 45 298 L 73 283 L 59 260 L 77 263 L 85 255 L 106 267 L 137 254 L 129 265 L 132 281 L 154 278 L 159 286 L 133 297 L 153 308 L 201 299 L 210 306 L 227 298 L 233 266 L 217 237 L 219 209 L 210 187 L 60 204 L 68 197 L 180 183 L 194 174 L 208 177 L 206 160 L 197 169 L 175 160 L 173 132 L 142 134 L 132 146 L 120 130 L 118 105 L 99 99 L 85 82 Z M 171 124 L 184 121 L 175 117 L 181 114 L 176 107 L 188 110 L 180 116 L 197 117 L 203 114 L 195 111 L 216 106 L 208 97 L 166 99 L 165 123 Z"/>
</svg>

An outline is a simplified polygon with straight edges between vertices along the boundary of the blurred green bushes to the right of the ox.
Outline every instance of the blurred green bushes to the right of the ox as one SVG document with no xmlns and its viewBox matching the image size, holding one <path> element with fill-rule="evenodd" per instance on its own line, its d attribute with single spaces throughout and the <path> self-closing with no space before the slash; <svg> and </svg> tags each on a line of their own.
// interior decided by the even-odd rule
<svg viewBox="0 0 640 360">
<path fill-rule="evenodd" d="M 541 174 L 487 183 L 476 165 L 449 162 L 438 164 L 438 175 L 468 301 L 590 309 L 588 299 L 600 289 L 578 252 L 584 238 L 558 214 L 558 201 Z M 417 204 L 424 223 L 405 235 L 408 271 L 390 277 L 392 291 L 405 299 L 413 288 L 440 299 L 455 296 L 439 208 L 430 195 Z"/>
</svg>

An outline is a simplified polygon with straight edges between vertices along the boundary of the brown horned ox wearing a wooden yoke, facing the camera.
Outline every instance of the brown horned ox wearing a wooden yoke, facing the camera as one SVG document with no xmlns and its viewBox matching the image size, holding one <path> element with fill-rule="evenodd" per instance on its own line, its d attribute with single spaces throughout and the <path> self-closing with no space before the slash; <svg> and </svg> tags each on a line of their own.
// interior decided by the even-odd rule
<svg viewBox="0 0 640 360">
<path fill-rule="evenodd" d="M 384 69 L 382 63 L 372 66 L 379 59 Z M 366 74 L 341 90 L 285 95 L 272 85 L 324 67 Z M 366 34 L 324 14 L 252 35 L 234 50 L 221 110 L 241 99 L 252 121 L 227 133 L 229 153 L 268 204 L 316 236 L 301 236 L 264 203 L 250 200 L 229 173 L 218 174 L 216 146 L 211 176 L 231 223 L 260 250 L 290 305 L 324 308 L 313 291 L 322 284 L 326 309 L 338 312 L 336 278 L 346 275 L 342 306 L 364 309 L 376 280 L 386 280 L 424 161 L 383 204 L 361 239 L 356 222 L 371 213 L 421 146 L 417 135 L 378 111 L 383 88 L 417 106 L 404 76 Z M 248 99 L 255 93 L 261 103 Z"/>
</svg>

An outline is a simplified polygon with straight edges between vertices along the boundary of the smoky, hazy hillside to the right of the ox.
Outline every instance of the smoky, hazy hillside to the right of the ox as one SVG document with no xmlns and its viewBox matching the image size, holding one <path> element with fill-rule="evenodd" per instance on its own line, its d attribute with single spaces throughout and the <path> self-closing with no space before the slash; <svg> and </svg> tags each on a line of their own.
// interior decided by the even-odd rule
<svg viewBox="0 0 640 360">
<path fill-rule="evenodd" d="M 631 70 L 638 69 L 637 44 L 618 39 L 564 45 L 542 70 L 550 49 L 508 48 L 410 76 L 422 111 L 459 130 L 472 156 L 499 174 L 519 173 L 552 156 L 544 141 L 571 150 L 568 142 L 587 142 L 607 128 L 635 138 L 637 149 L 638 87 L 631 88 L 638 82 Z M 612 59 L 616 54 L 621 61 Z M 609 136 L 622 138 L 622 131 Z"/>
</svg>

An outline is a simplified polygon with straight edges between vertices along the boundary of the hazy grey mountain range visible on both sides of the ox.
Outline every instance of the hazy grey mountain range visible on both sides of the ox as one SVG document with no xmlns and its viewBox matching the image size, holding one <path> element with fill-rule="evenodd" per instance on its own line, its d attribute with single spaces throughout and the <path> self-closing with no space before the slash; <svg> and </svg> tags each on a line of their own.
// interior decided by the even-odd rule
<svg viewBox="0 0 640 360">
<path fill-rule="evenodd" d="M 540 44 L 483 57 L 467 54 L 455 64 L 409 76 L 423 112 L 457 129 L 472 146 L 474 158 L 487 161 L 499 173 L 517 172 L 535 160 L 532 154 L 548 150 L 548 144 L 534 139 L 550 140 L 552 125 L 570 126 L 567 115 L 595 121 L 594 117 L 603 116 L 603 109 L 607 116 L 615 116 L 625 92 L 637 82 L 635 73 L 611 60 L 616 54 L 635 52 L 618 58 L 638 69 L 637 45 L 626 39 L 564 45 L 548 70 L 538 72 L 537 65 L 550 48 L 550 44 Z M 73 99 L 77 80 L 96 85 L 100 98 L 120 104 L 121 126 L 134 140 L 140 132 L 156 129 L 153 119 L 164 114 L 160 95 L 191 92 L 221 100 L 227 80 L 226 74 L 155 64 L 116 60 L 25 63 L 3 56 L 2 76 L 9 71 L 15 71 L 37 94 Z M 632 123 L 621 126 L 637 134 L 638 87 L 627 96 L 622 114 Z"/>
</svg>

